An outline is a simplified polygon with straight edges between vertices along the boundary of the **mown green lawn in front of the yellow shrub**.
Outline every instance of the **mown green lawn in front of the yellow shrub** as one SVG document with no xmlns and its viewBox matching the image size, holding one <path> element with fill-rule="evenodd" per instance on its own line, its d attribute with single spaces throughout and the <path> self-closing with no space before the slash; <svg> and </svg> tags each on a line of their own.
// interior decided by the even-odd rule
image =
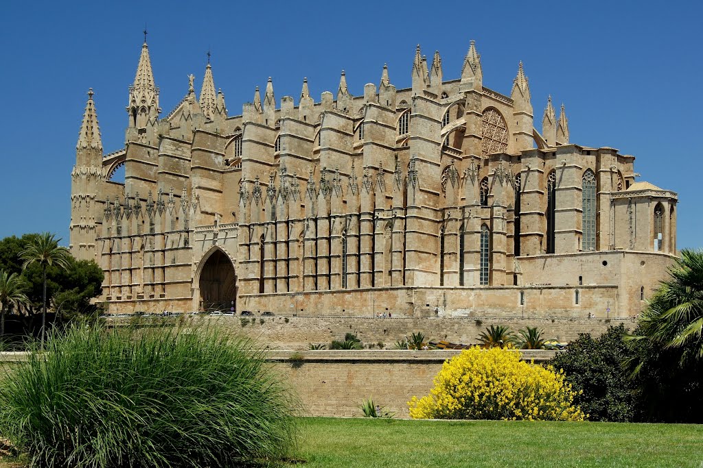
<svg viewBox="0 0 703 468">
<path fill-rule="evenodd" d="M 304 418 L 306 468 L 702 468 L 703 424 Z"/>
</svg>

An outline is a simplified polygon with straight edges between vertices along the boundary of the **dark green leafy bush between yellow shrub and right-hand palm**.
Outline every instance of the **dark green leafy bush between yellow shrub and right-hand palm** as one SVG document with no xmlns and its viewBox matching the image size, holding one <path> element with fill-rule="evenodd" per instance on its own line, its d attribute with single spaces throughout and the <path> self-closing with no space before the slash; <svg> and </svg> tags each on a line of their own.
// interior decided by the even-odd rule
<svg viewBox="0 0 703 468">
<path fill-rule="evenodd" d="M 638 420 L 638 388 L 622 366 L 629 354 L 623 335 L 625 326 L 611 326 L 600 337 L 580 333 L 565 352 L 550 364 L 564 370 L 581 406 L 593 421 L 630 422 Z"/>
</svg>

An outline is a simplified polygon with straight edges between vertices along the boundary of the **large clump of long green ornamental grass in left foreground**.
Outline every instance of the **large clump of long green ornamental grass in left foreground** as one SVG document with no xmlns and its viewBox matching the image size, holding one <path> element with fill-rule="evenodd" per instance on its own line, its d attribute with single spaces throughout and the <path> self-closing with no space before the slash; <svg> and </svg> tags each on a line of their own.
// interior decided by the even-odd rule
<svg viewBox="0 0 703 468">
<path fill-rule="evenodd" d="M 0 434 L 46 467 L 235 467 L 283 457 L 288 390 L 217 328 L 72 328 L 0 382 Z"/>
</svg>

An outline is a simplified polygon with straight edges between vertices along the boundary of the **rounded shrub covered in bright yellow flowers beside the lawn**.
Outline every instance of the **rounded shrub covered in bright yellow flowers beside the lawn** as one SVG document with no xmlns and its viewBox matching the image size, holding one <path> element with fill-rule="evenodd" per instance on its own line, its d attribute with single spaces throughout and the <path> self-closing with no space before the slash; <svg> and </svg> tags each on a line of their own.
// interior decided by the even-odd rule
<svg viewBox="0 0 703 468">
<path fill-rule="evenodd" d="M 583 421 L 563 373 L 520 361 L 517 349 L 465 349 L 447 360 L 430 394 L 408 402 L 414 418 Z"/>
</svg>

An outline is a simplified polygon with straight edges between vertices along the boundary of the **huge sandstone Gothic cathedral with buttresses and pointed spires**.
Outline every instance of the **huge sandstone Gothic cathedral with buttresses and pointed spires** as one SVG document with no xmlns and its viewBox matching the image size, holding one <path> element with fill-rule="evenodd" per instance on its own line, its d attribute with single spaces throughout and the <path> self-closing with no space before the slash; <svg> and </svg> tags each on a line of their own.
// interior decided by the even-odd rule
<svg viewBox="0 0 703 468">
<path fill-rule="evenodd" d="M 145 40 L 124 147 L 103 154 L 91 90 L 71 173 L 70 250 L 101 265 L 108 313 L 638 314 L 676 255 L 676 193 L 570 142 L 550 97 L 538 129 L 522 63 L 510 95 L 474 41 L 458 78 L 420 46 L 411 65 L 411 88 L 384 66 L 354 96 L 342 71 L 318 101 L 269 78 L 231 116 L 208 58 L 163 114 Z"/>
</svg>

